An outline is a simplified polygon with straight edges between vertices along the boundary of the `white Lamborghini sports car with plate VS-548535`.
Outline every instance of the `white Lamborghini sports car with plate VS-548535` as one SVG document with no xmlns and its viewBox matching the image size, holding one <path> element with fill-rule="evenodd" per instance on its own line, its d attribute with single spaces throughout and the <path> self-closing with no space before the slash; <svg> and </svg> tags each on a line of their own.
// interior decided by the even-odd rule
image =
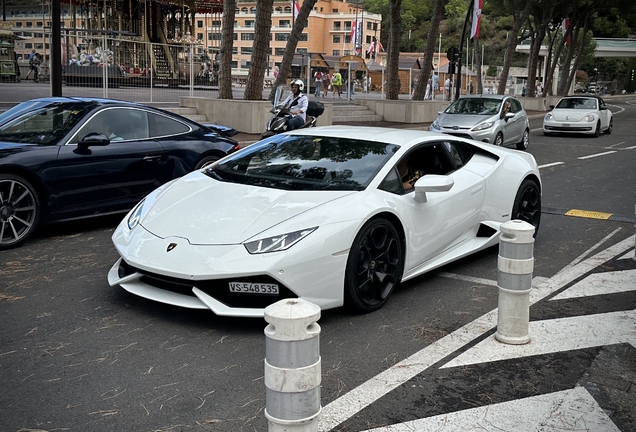
<svg viewBox="0 0 636 432">
<path fill-rule="evenodd" d="M 418 178 L 419 177 L 419 178 Z M 152 192 L 121 222 L 112 286 L 218 315 L 302 297 L 379 309 L 400 281 L 539 227 L 532 155 L 450 135 L 296 130 Z"/>
</svg>

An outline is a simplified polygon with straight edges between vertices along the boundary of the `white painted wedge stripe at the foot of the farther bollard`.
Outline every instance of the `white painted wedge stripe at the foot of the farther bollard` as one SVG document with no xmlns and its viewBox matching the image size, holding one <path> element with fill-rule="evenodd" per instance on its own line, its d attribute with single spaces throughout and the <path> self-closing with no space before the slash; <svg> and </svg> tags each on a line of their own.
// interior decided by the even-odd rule
<svg viewBox="0 0 636 432">
<path fill-rule="evenodd" d="M 629 343 L 636 348 L 636 309 L 531 321 L 531 343 L 510 345 L 491 335 L 440 369 Z"/>
</svg>

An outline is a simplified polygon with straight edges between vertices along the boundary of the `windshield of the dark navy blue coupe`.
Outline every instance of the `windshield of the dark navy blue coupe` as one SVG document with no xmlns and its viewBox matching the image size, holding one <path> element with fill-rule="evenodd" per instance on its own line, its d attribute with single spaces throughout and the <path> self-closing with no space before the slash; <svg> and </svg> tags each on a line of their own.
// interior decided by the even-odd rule
<svg viewBox="0 0 636 432">
<path fill-rule="evenodd" d="M 89 104 L 83 102 L 54 102 L 45 105 L 24 102 L 0 118 L 0 141 L 56 144 L 89 109 Z"/>
</svg>

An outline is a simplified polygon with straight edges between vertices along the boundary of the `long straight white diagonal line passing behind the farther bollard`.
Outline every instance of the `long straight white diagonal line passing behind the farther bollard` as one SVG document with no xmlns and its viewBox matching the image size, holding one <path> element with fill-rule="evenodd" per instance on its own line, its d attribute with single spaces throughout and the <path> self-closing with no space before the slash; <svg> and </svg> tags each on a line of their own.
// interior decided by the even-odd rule
<svg viewBox="0 0 636 432">
<path fill-rule="evenodd" d="M 625 253 L 633 246 L 632 236 L 582 261 L 568 271 L 554 275 L 544 284 L 530 291 L 530 304 L 551 295 L 604 262 Z M 496 325 L 497 309 L 493 309 L 351 389 L 323 407 L 318 419 L 318 430 L 324 432 L 335 428 L 444 357 L 491 331 Z"/>
</svg>

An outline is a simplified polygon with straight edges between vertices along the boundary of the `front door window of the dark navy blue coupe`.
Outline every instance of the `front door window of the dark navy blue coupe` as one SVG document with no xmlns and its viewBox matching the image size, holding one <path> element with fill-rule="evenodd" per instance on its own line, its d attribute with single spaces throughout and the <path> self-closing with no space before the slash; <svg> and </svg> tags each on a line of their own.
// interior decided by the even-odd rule
<svg viewBox="0 0 636 432">
<path fill-rule="evenodd" d="M 148 138 L 148 121 L 144 111 L 129 108 L 104 109 L 79 130 L 71 140 L 77 144 L 89 133 L 101 133 L 111 141 L 129 141 Z"/>
</svg>

